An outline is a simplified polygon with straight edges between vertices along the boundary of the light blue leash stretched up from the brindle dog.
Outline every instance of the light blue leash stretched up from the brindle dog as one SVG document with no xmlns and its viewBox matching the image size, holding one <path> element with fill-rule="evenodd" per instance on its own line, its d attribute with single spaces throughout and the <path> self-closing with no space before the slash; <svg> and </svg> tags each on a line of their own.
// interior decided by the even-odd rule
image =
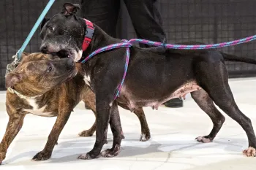
<svg viewBox="0 0 256 170">
<path fill-rule="evenodd" d="M 20 50 L 18 50 L 16 56 L 18 58 L 18 61 L 20 61 L 21 54 L 25 50 L 26 46 L 29 44 L 29 41 L 31 37 L 34 35 L 34 32 L 37 31 L 38 26 L 42 22 L 43 18 L 45 18 L 46 13 L 49 11 L 50 7 L 53 5 L 55 0 L 49 0 L 48 4 L 46 5 L 45 9 L 42 11 L 41 15 L 37 19 L 37 22 L 34 24 L 33 28 L 31 29 L 29 35 L 26 37 L 25 42 L 23 42 L 23 45 L 21 46 Z"/>
</svg>

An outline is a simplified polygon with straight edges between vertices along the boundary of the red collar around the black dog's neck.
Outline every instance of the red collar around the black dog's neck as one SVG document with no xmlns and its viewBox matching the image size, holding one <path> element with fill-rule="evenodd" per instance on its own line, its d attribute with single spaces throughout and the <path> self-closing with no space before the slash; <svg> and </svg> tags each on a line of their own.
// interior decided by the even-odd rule
<svg viewBox="0 0 256 170">
<path fill-rule="evenodd" d="M 86 34 L 83 39 L 83 45 L 82 45 L 82 50 L 85 51 L 92 40 L 92 36 L 94 36 L 94 24 L 91 23 L 91 21 L 83 19 L 86 21 Z"/>
</svg>

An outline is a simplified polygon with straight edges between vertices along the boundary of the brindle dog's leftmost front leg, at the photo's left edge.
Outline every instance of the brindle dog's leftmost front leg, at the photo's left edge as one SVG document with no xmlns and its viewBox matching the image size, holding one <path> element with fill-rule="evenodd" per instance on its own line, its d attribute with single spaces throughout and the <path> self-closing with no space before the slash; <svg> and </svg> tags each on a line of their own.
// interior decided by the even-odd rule
<svg viewBox="0 0 256 170">
<path fill-rule="evenodd" d="M 8 106 L 7 112 L 10 115 Z M 10 115 L 4 137 L 0 144 L 0 165 L 1 162 L 4 161 L 8 147 L 10 147 L 13 139 L 15 139 L 15 136 L 17 136 L 18 132 L 22 128 L 24 117 L 25 115 L 22 115 L 20 112 Z"/>
</svg>

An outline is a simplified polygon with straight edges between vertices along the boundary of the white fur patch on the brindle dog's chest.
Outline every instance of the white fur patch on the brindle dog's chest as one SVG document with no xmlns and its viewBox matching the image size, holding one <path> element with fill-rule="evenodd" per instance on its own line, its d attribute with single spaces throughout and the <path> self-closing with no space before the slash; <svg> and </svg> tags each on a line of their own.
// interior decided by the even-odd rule
<svg viewBox="0 0 256 170">
<path fill-rule="evenodd" d="M 39 108 L 39 105 L 37 104 L 37 101 L 35 99 L 26 99 L 26 101 L 29 103 L 31 107 L 33 107 L 33 109 L 23 109 L 24 111 L 37 116 L 43 116 L 43 117 L 54 116 L 52 112 L 45 112 L 45 107 L 47 107 L 47 105 Z"/>
</svg>

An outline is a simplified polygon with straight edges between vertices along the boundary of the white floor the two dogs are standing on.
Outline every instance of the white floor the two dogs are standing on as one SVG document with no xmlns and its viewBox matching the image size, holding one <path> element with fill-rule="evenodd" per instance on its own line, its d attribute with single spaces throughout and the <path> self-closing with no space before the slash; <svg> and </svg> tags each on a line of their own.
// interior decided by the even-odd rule
<svg viewBox="0 0 256 170">
<path fill-rule="evenodd" d="M 251 118 L 256 126 L 256 78 L 230 80 L 230 86 L 238 107 Z M 0 92 L 0 138 L 7 125 L 5 92 Z M 31 158 L 42 148 L 48 138 L 55 117 L 28 115 L 20 134 L 12 142 L 4 165 L 0 169 L 255 169 L 256 158 L 245 158 L 242 150 L 247 147 L 246 134 L 227 115 L 225 125 L 214 142 L 201 144 L 194 139 L 211 131 L 212 123 L 208 116 L 197 107 L 190 96 L 184 107 L 170 109 L 159 107 L 158 111 L 145 108 L 146 118 L 151 129 L 151 139 L 139 142 L 140 124 L 131 112 L 119 109 L 126 139 L 122 141 L 121 153 L 116 158 L 99 158 L 91 161 L 77 159 L 80 153 L 88 152 L 94 145 L 95 136 L 78 137 L 78 132 L 89 128 L 94 122 L 90 110 L 83 104 L 75 112 L 62 131 L 59 145 L 53 150 L 48 161 L 35 162 Z M 112 146 L 112 135 L 108 133 L 108 144 Z"/>
</svg>

